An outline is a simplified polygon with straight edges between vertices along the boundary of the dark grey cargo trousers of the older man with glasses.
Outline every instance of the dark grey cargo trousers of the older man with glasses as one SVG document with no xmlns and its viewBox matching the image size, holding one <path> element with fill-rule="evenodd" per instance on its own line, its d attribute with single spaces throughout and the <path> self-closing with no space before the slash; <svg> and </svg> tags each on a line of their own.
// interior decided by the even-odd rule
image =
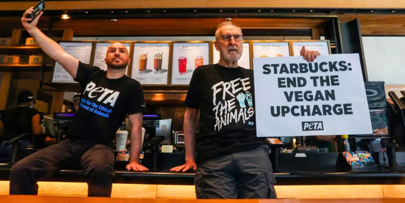
<svg viewBox="0 0 405 203">
<path fill-rule="evenodd" d="M 277 198 L 269 146 L 197 163 L 197 199 Z"/>
</svg>

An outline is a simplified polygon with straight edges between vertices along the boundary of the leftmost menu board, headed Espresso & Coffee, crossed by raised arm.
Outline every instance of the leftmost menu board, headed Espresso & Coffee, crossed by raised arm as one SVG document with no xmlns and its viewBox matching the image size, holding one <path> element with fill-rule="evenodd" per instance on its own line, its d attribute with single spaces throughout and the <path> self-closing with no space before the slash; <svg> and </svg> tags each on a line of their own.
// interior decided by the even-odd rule
<svg viewBox="0 0 405 203">
<path fill-rule="evenodd" d="M 75 57 L 83 63 L 90 63 L 92 56 L 93 43 L 91 42 L 60 42 L 59 45 L 68 54 Z M 55 62 L 55 69 L 53 70 L 52 82 L 60 83 L 76 83 L 73 77 L 62 67 L 58 62 Z"/>
</svg>

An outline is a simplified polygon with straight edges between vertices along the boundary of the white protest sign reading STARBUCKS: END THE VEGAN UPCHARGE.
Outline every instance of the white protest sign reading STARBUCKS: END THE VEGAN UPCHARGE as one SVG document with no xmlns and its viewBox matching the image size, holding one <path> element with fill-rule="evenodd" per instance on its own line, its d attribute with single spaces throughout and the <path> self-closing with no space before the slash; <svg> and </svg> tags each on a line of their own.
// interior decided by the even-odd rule
<svg viewBox="0 0 405 203">
<path fill-rule="evenodd" d="M 258 137 L 372 133 L 358 54 L 253 63 Z"/>
</svg>

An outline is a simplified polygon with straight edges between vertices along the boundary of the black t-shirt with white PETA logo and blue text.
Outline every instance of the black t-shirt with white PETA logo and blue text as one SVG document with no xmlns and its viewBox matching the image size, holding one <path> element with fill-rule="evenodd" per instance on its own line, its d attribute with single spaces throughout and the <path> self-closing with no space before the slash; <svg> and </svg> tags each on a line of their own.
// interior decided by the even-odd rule
<svg viewBox="0 0 405 203">
<path fill-rule="evenodd" d="M 68 138 L 108 144 L 127 114 L 145 112 L 141 84 L 126 75 L 108 79 L 107 71 L 79 62 L 75 81 L 82 94 Z"/>
</svg>

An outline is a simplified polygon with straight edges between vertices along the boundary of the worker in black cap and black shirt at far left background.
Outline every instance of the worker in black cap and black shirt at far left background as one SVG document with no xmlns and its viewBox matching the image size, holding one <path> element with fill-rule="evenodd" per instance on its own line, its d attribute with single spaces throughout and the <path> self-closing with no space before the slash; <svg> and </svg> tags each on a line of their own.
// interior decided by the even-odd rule
<svg viewBox="0 0 405 203">
<path fill-rule="evenodd" d="M 9 140 L 28 133 L 19 140 L 21 143 L 20 149 L 25 149 L 27 145 L 32 144 L 33 135 L 40 136 L 43 133 L 40 126 L 39 112 L 34 109 L 36 102 L 32 92 L 29 90 L 21 91 L 17 100 L 18 106 L 1 116 L 0 128 L 4 127 L 3 134 L 0 134 L 0 138 L 4 137 L 0 145 L 0 157 L 2 158 L 11 158 L 12 145 L 5 146 Z"/>
</svg>

